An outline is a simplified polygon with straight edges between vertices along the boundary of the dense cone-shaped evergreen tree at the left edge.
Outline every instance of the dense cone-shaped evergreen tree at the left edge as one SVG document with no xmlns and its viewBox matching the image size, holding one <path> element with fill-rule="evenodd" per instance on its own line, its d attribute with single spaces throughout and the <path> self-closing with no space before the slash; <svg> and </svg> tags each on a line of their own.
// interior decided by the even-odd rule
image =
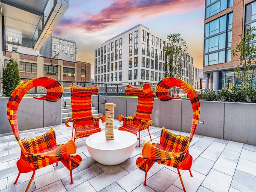
<svg viewBox="0 0 256 192">
<path fill-rule="evenodd" d="M 3 70 L 3 91 L 6 97 L 12 94 L 12 91 L 20 84 L 20 74 L 17 61 L 10 59 L 6 68 Z"/>
</svg>

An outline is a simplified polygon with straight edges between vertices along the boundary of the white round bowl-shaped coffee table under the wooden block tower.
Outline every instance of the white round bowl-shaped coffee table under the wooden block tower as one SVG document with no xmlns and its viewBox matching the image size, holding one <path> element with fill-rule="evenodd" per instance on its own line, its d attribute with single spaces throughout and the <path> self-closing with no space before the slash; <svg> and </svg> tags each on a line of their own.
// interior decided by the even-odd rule
<svg viewBox="0 0 256 192">
<path fill-rule="evenodd" d="M 105 131 L 87 137 L 85 143 L 94 160 L 103 165 L 117 165 L 130 157 L 137 137 L 127 131 L 114 131 L 114 140 L 106 140 Z"/>
</svg>

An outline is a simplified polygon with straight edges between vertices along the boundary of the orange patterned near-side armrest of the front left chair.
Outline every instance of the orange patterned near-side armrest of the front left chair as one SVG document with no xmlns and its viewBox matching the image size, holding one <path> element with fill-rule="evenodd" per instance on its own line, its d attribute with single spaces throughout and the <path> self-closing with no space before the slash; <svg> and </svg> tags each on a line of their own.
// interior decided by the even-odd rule
<svg viewBox="0 0 256 192">
<path fill-rule="evenodd" d="M 25 155 L 31 157 L 65 157 L 71 154 L 76 153 L 76 143 L 73 140 L 69 140 L 67 143 L 62 145 L 56 145 L 52 150 L 41 152 L 41 153 L 29 153 L 25 152 Z"/>
</svg>

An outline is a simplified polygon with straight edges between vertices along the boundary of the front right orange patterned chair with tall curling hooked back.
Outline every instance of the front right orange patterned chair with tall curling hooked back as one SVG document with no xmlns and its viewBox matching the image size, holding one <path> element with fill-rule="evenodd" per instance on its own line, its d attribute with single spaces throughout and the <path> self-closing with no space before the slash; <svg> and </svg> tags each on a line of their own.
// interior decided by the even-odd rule
<svg viewBox="0 0 256 192">
<path fill-rule="evenodd" d="M 200 102 L 194 88 L 185 81 L 182 81 L 181 79 L 177 79 L 175 77 L 168 77 L 162 79 L 157 84 L 157 98 L 161 101 L 171 100 L 172 97 L 169 96 L 169 88 L 174 86 L 182 88 L 189 96 L 192 104 L 193 119 L 190 136 L 186 137 L 182 135 L 175 135 L 163 128 L 161 132 L 160 143 L 151 144 L 147 141 L 143 145 L 143 157 L 137 158 L 136 164 L 139 169 L 145 172 L 144 186 L 146 186 L 147 172 L 149 171 L 149 169 L 151 169 L 154 162 L 177 168 L 183 191 L 186 192 L 180 175 L 180 169 L 189 170 L 190 176 L 192 177 L 190 168 L 192 166 L 193 158 L 189 154 L 189 145 L 195 134 L 195 129 L 198 124 L 200 116 Z M 166 182 L 168 182 L 168 180 Z"/>
</svg>

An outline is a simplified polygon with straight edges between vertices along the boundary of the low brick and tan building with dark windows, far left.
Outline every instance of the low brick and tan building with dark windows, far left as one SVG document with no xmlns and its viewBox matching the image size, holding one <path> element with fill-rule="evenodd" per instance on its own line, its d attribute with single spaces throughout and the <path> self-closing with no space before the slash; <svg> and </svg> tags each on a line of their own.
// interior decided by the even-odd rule
<svg viewBox="0 0 256 192">
<path fill-rule="evenodd" d="M 58 58 L 46 58 L 32 49 L 18 47 L 16 52 L 6 52 L 5 65 L 13 58 L 18 63 L 20 78 L 51 77 L 59 81 L 90 82 L 90 64 L 67 57 L 64 53 Z M 71 82 L 63 82 L 69 88 Z"/>
</svg>

